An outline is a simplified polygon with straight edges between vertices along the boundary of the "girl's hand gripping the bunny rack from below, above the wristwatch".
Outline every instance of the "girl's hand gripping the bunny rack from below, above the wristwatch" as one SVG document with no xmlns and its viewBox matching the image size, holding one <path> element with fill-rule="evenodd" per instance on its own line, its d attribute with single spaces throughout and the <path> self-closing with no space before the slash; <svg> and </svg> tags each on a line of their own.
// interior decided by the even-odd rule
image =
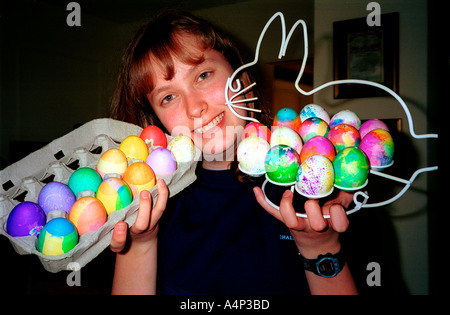
<svg viewBox="0 0 450 315">
<path fill-rule="evenodd" d="M 337 253 L 340 250 L 339 233 L 345 232 L 349 221 L 345 209 L 351 204 L 353 195 L 339 192 L 335 199 L 320 207 L 318 200 L 305 202 L 307 218 L 297 217 L 292 205 L 293 192 L 287 190 L 281 199 L 280 210 L 265 199 L 261 188 L 253 189 L 258 203 L 291 231 L 298 250 L 306 258 L 317 258 L 319 254 Z M 325 219 L 323 215 L 330 215 Z"/>
</svg>

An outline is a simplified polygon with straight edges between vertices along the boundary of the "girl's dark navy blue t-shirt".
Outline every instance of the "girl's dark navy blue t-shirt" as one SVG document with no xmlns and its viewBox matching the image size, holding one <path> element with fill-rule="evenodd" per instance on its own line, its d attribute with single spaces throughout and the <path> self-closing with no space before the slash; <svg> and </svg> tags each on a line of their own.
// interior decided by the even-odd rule
<svg viewBox="0 0 450 315">
<path fill-rule="evenodd" d="M 158 234 L 158 294 L 309 294 L 289 230 L 232 171 L 205 170 L 169 199 Z"/>
</svg>

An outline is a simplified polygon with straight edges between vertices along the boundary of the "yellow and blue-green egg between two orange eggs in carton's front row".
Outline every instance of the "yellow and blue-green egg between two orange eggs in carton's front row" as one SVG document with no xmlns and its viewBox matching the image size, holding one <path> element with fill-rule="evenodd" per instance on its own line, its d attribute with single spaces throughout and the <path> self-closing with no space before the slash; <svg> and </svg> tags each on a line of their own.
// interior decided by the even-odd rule
<svg viewBox="0 0 450 315">
<path fill-rule="evenodd" d="M 103 203 L 108 215 L 133 202 L 130 187 L 124 180 L 116 177 L 106 178 L 98 187 L 95 197 Z"/>
</svg>

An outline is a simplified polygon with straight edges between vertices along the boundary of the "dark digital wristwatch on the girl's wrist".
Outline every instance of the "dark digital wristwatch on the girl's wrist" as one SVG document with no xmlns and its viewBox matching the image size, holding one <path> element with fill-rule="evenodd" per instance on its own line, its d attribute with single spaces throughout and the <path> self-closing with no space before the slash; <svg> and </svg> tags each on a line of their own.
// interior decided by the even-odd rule
<svg viewBox="0 0 450 315">
<path fill-rule="evenodd" d="M 319 255 L 317 259 L 306 259 L 300 253 L 299 255 L 302 258 L 303 268 L 305 270 L 324 278 L 335 277 L 345 265 L 342 251 L 334 255 L 331 253 Z"/>
</svg>

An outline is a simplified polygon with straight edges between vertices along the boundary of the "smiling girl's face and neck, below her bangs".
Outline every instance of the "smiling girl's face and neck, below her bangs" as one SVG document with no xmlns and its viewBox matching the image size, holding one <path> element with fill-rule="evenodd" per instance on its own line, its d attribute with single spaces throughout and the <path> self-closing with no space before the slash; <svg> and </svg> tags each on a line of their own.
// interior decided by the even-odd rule
<svg viewBox="0 0 450 315">
<path fill-rule="evenodd" d="M 156 66 L 147 98 L 169 133 L 189 136 L 202 150 L 204 167 L 228 168 L 246 123 L 225 104 L 225 85 L 233 69 L 216 50 L 195 51 L 203 55 L 201 62 L 192 65 L 174 58 L 171 79 Z M 246 115 L 244 110 L 239 114 Z"/>
</svg>

